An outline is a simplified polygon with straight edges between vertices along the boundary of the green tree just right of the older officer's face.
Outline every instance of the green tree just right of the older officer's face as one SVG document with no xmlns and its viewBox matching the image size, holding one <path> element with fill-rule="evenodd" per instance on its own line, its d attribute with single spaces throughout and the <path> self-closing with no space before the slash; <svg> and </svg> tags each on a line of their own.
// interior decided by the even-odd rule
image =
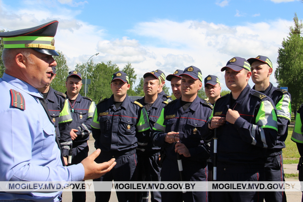
<svg viewBox="0 0 303 202">
<path fill-rule="evenodd" d="M 51 87 L 64 93 L 66 91 L 65 80 L 68 76 L 69 69 L 66 64 L 66 58 L 62 51 L 56 50 L 56 52 L 59 54 L 59 56 L 54 56 L 54 59 L 57 62 L 56 77 L 52 81 Z"/>
</svg>

